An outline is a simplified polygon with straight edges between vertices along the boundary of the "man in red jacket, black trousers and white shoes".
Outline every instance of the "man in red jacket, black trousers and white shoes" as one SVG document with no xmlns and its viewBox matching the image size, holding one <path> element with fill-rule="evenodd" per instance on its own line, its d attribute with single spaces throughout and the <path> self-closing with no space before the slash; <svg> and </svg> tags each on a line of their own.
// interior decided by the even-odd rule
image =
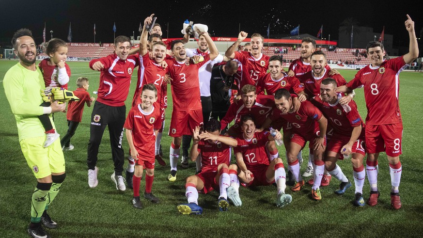
<svg viewBox="0 0 423 238">
<path fill-rule="evenodd" d="M 109 127 L 110 145 L 114 172 L 111 179 L 116 184 L 116 189 L 126 189 L 122 177 L 124 149 L 122 137 L 125 124 L 125 100 L 129 93 L 131 76 L 134 68 L 138 66 L 135 55 L 128 55 L 131 43 L 128 37 L 118 36 L 114 40 L 115 53 L 90 62 L 90 68 L 100 71 L 100 85 L 98 97 L 94 103 L 91 114 L 90 142 L 88 143 L 88 185 L 94 188 L 98 184 L 97 155 L 106 126 Z"/>
</svg>

